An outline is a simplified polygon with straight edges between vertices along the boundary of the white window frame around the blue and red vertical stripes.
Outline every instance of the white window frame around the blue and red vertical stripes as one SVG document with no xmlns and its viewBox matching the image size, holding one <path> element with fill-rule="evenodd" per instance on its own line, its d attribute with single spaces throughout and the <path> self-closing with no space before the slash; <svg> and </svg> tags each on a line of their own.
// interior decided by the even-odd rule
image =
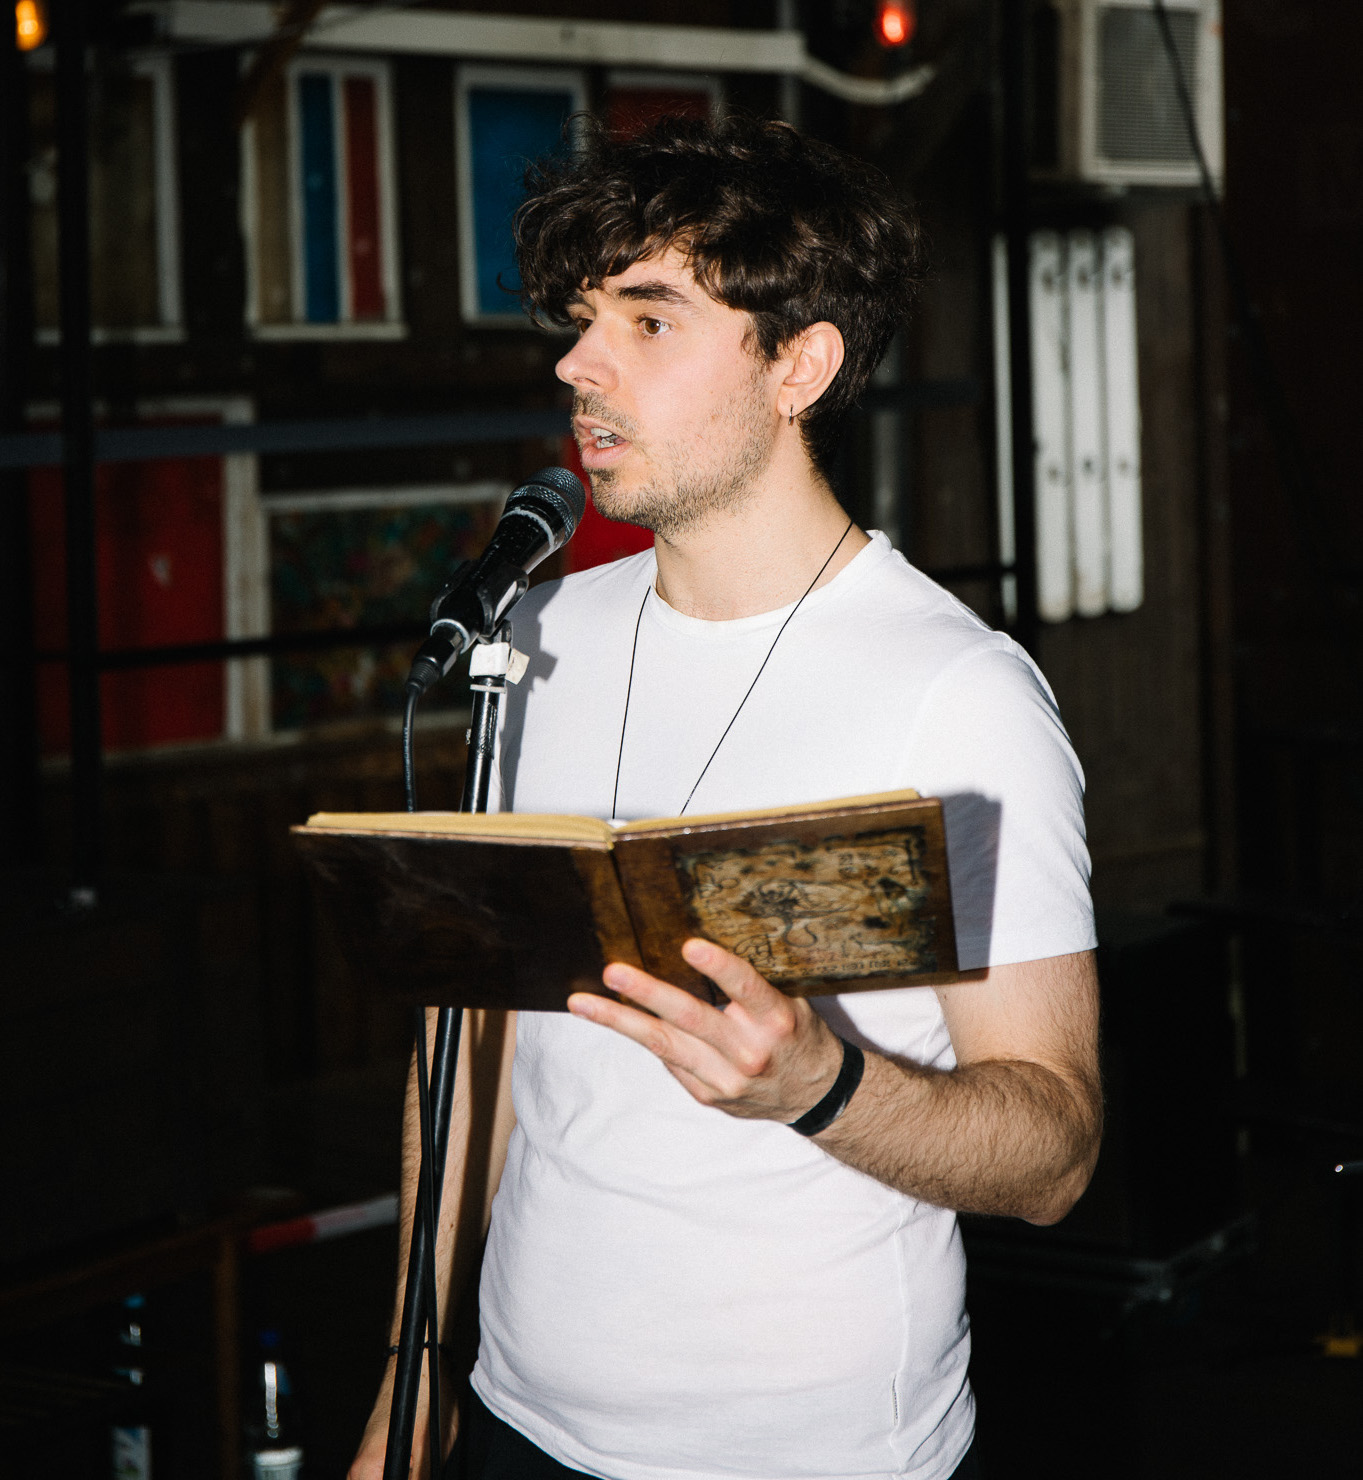
<svg viewBox="0 0 1363 1480">
<path fill-rule="evenodd" d="M 244 65 L 244 64 L 243 64 Z M 329 73 L 337 81 L 345 77 L 368 77 L 374 83 L 376 110 L 376 155 L 379 167 L 379 237 L 382 255 L 383 300 L 388 317 L 382 320 L 355 320 L 343 317 L 333 324 L 315 324 L 302 318 L 305 263 L 303 263 L 303 195 L 302 160 L 299 157 L 297 75 L 299 73 Z M 407 323 L 403 317 L 401 272 L 398 271 L 398 225 L 397 225 L 397 164 L 392 127 L 392 70 L 388 62 L 371 58 L 326 56 L 306 53 L 289 62 L 284 71 L 284 96 L 287 101 L 287 167 L 289 167 L 289 293 L 293 318 L 287 324 L 265 324 L 260 321 L 260 283 L 256 265 L 259 244 L 259 206 L 256 197 L 256 124 L 247 118 L 241 129 L 241 232 L 246 238 L 246 326 L 256 339 L 405 339 Z M 337 86 L 339 93 L 339 86 Z M 348 178 L 345 154 L 343 110 L 334 110 L 334 148 L 337 164 L 337 234 L 340 306 L 345 315 L 351 312 L 349 253 L 349 198 L 345 189 Z"/>
</svg>

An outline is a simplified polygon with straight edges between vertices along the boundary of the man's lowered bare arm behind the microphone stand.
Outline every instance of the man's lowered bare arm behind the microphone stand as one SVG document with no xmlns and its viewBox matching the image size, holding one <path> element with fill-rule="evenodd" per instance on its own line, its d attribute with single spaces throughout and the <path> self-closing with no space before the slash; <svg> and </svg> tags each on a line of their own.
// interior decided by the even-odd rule
<svg viewBox="0 0 1363 1480">
<path fill-rule="evenodd" d="M 440 1329 L 448 1329 L 448 1316 L 465 1294 L 474 1273 L 478 1249 L 487 1234 L 493 1196 L 506 1162 L 506 1143 L 515 1116 L 511 1107 L 511 1063 L 515 1052 L 515 1012 L 465 1012 L 459 1037 L 459 1064 L 450 1107 L 450 1148 L 445 1156 L 444 1190 L 435 1245 L 435 1282 L 440 1301 Z M 426 1049 L 435 1043 L 435 1009 L 426 1014 Z M 403 1114 L 403 1185 L 398 1212 L 398 1295 L 394 1307 L 389 1344 L 397 1345 L 403 1326 L 403 1294 L 407 1288 L 407 1251 L 411 1245 L 411 1218 L 420 1174 L 420 1129 L 417 1122 L 416 1055 L 407 1074 L 407 1101 Z M 383 1382 L 374 1402 L 360 1450 L 348 1480 L 380 1480 L 388 1447 L 388 1415 L 392 1407 L 392 1381 L 397 1360 L 389 1357 Z M 448 1399 L 447 1399 L 448 1402 Z M 425 1474 L 428 1421 L 426 1372 L 417 1400 L 411 1439 L 411 1474 Z M 445 1424 L 445 1446 L 454 1439 L 453 1409 Z"/>
</svg>

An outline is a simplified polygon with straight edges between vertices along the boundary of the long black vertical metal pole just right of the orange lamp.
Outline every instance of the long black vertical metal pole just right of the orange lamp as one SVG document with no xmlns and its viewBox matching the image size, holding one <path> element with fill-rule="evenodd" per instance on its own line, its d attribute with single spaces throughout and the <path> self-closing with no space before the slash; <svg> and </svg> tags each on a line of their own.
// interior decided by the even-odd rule
<svg viewBox="0 0 1363 1480">
<path fill-rule="evenodd" d="M 70 903 L 99 897 L 99 604 L 95 556 L 95 414 L 90 363 L 90 133 L 87 0 L 58 0 L 58 265 L 62 327 L 62 480 L 67 505 L 67 647 L 71 694 Z"/>
</svg>

